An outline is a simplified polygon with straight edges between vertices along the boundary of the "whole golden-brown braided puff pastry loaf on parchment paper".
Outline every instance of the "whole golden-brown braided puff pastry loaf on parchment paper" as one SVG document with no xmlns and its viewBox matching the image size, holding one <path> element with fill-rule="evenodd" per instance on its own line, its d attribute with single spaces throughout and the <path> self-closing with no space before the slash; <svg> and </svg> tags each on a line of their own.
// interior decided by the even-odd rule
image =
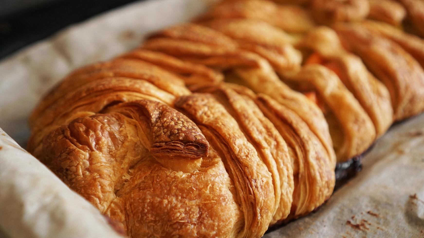
<svg viewBox="0 0 424 238">
<path fill-rule="evenodd" d="M 424 110 L 424 41 L 399 28 L 419 12 L 401 2 L 221 1 L 65 77 L 28 150 L 129 237 L 260 237 Z"/>
</svg>

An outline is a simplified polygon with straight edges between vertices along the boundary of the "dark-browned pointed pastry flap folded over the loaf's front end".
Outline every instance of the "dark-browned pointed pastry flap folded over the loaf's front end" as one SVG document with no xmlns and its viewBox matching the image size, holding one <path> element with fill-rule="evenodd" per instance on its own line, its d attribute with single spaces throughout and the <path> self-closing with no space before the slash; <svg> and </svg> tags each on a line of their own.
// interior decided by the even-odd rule
<svg viewBox="0 0 424 238">
<path fill-rule="evenodd" d="M 209 143 L 195 123 L 176 110 L 155 101 L 140 100 L 109 107 L 143 124 L 146 148 L 156 160 L 201 159 L 208 155 Z"/>
</svg>

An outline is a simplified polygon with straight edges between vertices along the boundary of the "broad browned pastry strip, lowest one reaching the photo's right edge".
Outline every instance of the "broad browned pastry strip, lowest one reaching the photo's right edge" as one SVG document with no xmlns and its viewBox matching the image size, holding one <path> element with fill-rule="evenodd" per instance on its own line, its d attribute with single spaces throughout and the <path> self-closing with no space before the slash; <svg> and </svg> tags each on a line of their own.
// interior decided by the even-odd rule
<svg viewBox="0 0 424 238">
<path fill-rule="evenodd" d="M 335 30 L 346 46 L 360 56 L 388 88 L 395 120 L 423 111 L 424 71 L 410 54 L 399 44 L 360 24 L 338 24 Z"/>
</svg>

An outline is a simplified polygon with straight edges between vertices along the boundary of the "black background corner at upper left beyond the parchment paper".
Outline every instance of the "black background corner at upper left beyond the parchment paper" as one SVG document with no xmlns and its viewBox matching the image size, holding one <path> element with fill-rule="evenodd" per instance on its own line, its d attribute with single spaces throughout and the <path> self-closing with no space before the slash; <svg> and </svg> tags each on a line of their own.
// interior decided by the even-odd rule
<svg viewBox="0 0 424 238">
<path fill-rule="evenodd" d="M 135 0 L 0 0 L 0 59 L 63 27 Z"/>
</svg>

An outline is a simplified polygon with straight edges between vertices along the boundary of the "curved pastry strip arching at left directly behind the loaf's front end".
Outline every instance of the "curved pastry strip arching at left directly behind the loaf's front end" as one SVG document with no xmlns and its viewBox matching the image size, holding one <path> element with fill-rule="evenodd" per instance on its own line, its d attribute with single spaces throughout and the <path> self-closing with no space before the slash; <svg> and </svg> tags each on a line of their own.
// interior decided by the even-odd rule
<svg viewBox="0 0 424 238">
<path fill-rule="evenodd" d="M 33 121 L 28 150 L 34 153 L 42 138 L 57 126 L 101 112 L 110 105 L 138 99 L 173 104 L 175 96 L 142 79 L 111 77 L 89 82 L 54 101 Z"/>
</svg>

